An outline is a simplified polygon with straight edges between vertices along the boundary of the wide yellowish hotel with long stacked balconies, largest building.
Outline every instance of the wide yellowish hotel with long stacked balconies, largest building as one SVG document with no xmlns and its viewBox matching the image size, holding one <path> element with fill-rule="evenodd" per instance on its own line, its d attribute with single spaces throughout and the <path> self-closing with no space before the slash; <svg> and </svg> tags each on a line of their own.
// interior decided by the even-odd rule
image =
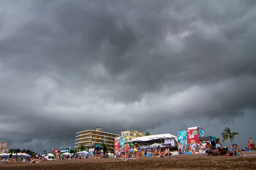
<svg viewBox="0 0 256 170">
<path fill-rule="evenodd" d="M 114 149 L 115 138 L 119 136 L 118 134 L 111 134 L 108 132 L 102 132 L 102 127 L 96 127 L 96 130 L 85 130 L 82 132 L 77 132 L 76 145 L 78 148 L 81 144 L 85 147 L 91 147 L 93 144 L 105 143 L 111 150 Z"/>
</svg>

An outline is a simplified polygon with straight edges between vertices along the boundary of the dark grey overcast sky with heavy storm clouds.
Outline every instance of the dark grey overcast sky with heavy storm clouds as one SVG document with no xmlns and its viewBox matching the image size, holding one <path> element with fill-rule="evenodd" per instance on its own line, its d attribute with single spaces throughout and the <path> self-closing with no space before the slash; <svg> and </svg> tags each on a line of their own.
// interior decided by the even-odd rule
<svg viewBox="0 0 256 170">
<path fill-rule="evenodd" d="M 98 126 L 227 126 L 245 148 L 255 54 L 255 0 L 0 0 L 0 142 L 40 152 Z"/>
</svg>

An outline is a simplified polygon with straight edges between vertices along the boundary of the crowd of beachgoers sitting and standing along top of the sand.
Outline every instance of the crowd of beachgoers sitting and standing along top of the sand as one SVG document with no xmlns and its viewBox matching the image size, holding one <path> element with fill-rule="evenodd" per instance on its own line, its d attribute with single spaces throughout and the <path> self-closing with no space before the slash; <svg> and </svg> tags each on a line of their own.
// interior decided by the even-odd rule
<svg viewBox="0 0 256 170">
<path fill-rule="evenodd" d="M 191 145 L 191 152 L 205 152 L 205 154 L 210 155 L 215 153 L 215 155 L 223 155 L 221 151 L 223 151 L 223 148 L 225 149 L 230 149 L 229 155 L 242 155 L 242 150 L 238 147 L 237 144 L 232 144 L 231 147 L 223 147 L 221 144 L 219 138 L 215 141 L 215 149 L 213 149 L 212 145 L 210 142 L 207 142 L 206 144 L 195 144 L 193 143 Z M 253 144 L 252 144 L 252 138 L 250 137 L 248 140 L 248 148 L 253 149 Z M 120 160 L 125 160 L 127 161 L 128 158 L 130 159 L 138 159 L 139 157 L 143 156 L 153 156 L 153 157 L 165 157 L 168 155 L 172 155 L 169 148 L 156 148 L 156 149 L 138 149 L 137 143 L 133 144 L 133 149 L 129 150 L 128 143 L 126 142 L 124 144 L 124 149 L 118 151 L 117 153 L 110 153 L 110 152 L 103 152 L 95 150 L 93 154 L 81 154 L 81 153 L 72 153 L 72 154 L 54 154 L 51 159 L 49 159 L 48 155 L 35 155 L 34 157 L 26 157 L 23 155 L 18 155 L 16 154 L 9 154 L 8 156 L 5 157 L 0 157 L 0 162 L 7 162 L 8 164 L 10 162 L 14 162 L 14 164 L 17 161 L 20 162 L 29 162 L 29 163 L 37 163 L 41 161 L 46 161 L 46 160 L 63 160 L 63 159 L 106 159 L 106 158 L 111 158 L 111 157 L 117 157 Z"/>
</svg>

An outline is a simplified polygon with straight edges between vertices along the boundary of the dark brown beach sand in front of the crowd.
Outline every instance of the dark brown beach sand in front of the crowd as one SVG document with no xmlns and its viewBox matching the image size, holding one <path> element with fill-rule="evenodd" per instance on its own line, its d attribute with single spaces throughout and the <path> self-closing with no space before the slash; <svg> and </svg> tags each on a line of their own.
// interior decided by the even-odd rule
<svg viewBox="0 0 256 170">
<path fill-rule="evenodd" d="M 11 162 L 0 164 L 0 170 L 16 169 L 256 169 L 256 152 L 243 152 L 249 156 L 207 156 L 205 154 L 174 155 L 164 158 L 140 157 L 137 160 L 128 161 L 117 158 L 108 159 L 72 159 L 42 161 L 29 164 Z M 254 155 L 252 155 L 254 154 Z M 252 156 L 251 156 L 252 155 Z"/>
</svg>

